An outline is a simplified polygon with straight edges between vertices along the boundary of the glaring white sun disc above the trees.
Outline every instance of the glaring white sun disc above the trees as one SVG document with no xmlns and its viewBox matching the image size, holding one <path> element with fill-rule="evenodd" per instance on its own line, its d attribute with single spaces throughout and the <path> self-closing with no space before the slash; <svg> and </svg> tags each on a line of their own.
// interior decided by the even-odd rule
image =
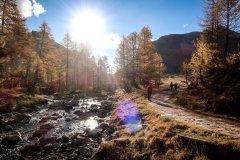
<svg viewBox="0 0 240 160">
<path fill-rule="evenodd" d="M 104 18 L 99 12 L 84 9 L 74 14 L 70 23 L 70 34 L 77 42 L 96 44 L 104 33 Z"/>
</svg>

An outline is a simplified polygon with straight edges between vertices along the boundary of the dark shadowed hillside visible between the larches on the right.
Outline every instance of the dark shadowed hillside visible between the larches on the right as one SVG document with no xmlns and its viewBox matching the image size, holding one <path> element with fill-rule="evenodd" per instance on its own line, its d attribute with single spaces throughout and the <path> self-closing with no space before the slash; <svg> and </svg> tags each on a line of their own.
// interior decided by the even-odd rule
<svg viewBox="0 0 240 160">
<path fill-rule="evenodd" d="M 194 50 L 194 41 L 199 38 L 201 32 L 186 34 L 170 34 L 154 41 L 157 52 L 161 54 L 168 73 L 180 71 L 182 62 L 190 58 Z"/>
</svg>

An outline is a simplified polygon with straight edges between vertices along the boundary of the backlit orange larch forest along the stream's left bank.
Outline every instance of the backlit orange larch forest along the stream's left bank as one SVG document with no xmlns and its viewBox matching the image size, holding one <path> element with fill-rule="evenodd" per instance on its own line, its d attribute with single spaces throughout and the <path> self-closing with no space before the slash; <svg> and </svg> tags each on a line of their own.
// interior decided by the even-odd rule
<svg viewBox="0 0 240 160">
<path fill-rule="evenodd" d="M 88 44 L 72 41 L 68 33 L 56 43 L 47 22 L 29 32 L 15 1 L 1 1 L 1 7 L 1 87 L 50 94 L 109 85 L 107 57 L 96 59 Z"/>
</svg>

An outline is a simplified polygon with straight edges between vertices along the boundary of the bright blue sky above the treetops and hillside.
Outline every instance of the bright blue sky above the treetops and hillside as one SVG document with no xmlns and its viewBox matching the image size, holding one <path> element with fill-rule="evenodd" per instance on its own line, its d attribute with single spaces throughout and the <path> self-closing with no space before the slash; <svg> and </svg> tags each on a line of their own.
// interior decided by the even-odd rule
<svg viewBox="0 0 240 160">
<path fill-rule="evenodd" d="M 139 32 L 148 25 L 152 30 L 153 39 L 167 34 L 180 34 L 200 31 L 199 18 L 202 17 L 203 0 L 18 0 L 38 4 L 42 9 L 38 14 L 27 15 L 29 30 L 38 30 L 45 20 L 51 33 L 58 43 L 62 43 L 63 36 L 70 32 L 71 21 L 81 10 L 95 12 L 104 19 L 104 34 L 116 39 L 112 47 L 98 48 L 92 46 L 94 55 L 107 55 L 111 63 L 115 57 L 116 44 L 123 35 Z M 25 9 L 27 5 L 22 5 Z M 36 5 L 37 6 L 37 5 Z M 42 6 L 39 7 L 39 6 Z M 34 7 L 32 7 L 34 11 Z M 37 13 L 37 12 L 36 12 Z M 90 23 L 92 24 L 92 23 Z M 79 22 L 79 28 L 81 22 Z M 77 26 L 78 27 L 78 26 Z M 77 28 L 76 27 L 76 28 Z M 76 32 L 73 35 L 76 35 Z M 80 37 L 81 35 L 79 35 Z M 106 41 L 107 43 L 107 41 Z M 96 53 L 98 52 L 98 53 Z"/>
</svg>

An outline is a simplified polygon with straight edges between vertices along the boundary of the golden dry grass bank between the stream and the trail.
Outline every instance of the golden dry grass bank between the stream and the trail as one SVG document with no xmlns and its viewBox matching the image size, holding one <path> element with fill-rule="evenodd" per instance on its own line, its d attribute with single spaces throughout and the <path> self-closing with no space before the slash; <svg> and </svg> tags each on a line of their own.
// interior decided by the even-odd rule
<svg viewBox="0 0 240 160">
<path fill-rule="evenodd" d="M 111 121 L 118 131 L 118 138 L 129 141 L 129 143 L 124 143 L 126 144 L 124 146 L 119 146 L 116 143 L 114 144 L 114 140 L 108 143 L 107 147 L 111 148 L 110 152 L 114 155 L 110 155 L 110 157 L 105 155 L 109 159 L 203 159 L 204 155 L 191 155 L 187 149 L 179 147 L 177 142 L 179 134 L 214 143 L 232 145 L 240 149 L 238 146 L 240 143 L 233 143 L 235 140 L 231 137 L 195 126 L 189 126 L 167 117 L 162 117 L 159 111 L 155 107 L 149 105 L 146 98 L 144 98 L 139 92 L 115 95 L 116 101 L 124 99 L 131 99 L 137 104 L 144 122 L 143 129 L 136 134 L 129 135 L 124 126 L 119 122 L 115 112 L 113 112 Z M 104 148 L 105 145 L 101 147 Z M 122 150 L 123 148 L 124 150 Z M 107 149 L 105 148 L 105 151 L 106 150 Z M 101 152 L 98 153 L 101 155 Z M 121 158 L 116 158 L 117 156 L 120 156 Z"/>
</svg>

